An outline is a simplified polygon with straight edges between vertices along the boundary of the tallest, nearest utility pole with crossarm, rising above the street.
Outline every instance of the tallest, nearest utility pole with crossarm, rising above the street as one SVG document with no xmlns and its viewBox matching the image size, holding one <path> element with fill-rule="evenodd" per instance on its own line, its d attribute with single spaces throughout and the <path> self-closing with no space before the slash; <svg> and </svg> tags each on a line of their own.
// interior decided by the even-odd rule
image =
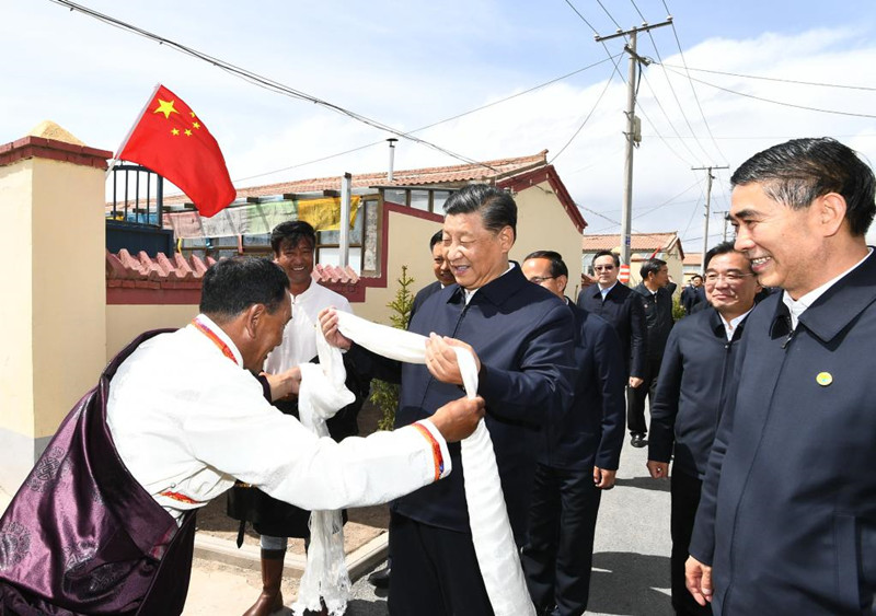
<svg viewBox="0 0 876 616">
<path fill-rule="evenodd" d="M 593 37 L 597 43 L 618 38 L 619 36 L 630 36 L 630 40 L 624 45 L 623 50 L 630 54 L 630 72 L 626 80 L 626 158 L 623 165 L 624 185 L 623 185 L 623 206 L 621 208 L 621 263 L 630 265 L 630 221 L 632 219 L 633 210 L 633 148 L 642 141 L 642 130 L 639 128 L 638 118 L 636 117 L 636 69 L 638 63 L 648 66 L 650 60 L 639 56 L 636 53 L 636 35 L 639 32 L 648 32 L 655 27 L 670 25 L 672 18 L 666 18 L 665 22 L 649 25 L 643 23 L 638 27 L 632 27 L 626 31 L 619 30 L 615 34 L 608 36 Z"/>
</svg>

